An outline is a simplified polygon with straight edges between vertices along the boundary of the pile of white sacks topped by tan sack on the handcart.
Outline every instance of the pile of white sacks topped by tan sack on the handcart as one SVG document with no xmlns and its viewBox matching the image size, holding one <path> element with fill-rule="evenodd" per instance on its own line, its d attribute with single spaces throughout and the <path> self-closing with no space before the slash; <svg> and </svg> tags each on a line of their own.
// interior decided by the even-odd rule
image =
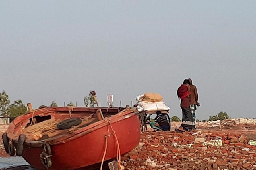
<svg viewBox="0 0 256 170">
<path fill-rule="evenodd" d="M 158 93 L 145 93 L 136 97 L 138 111 L 168 111 L 170 107 L 166 106 L 163 97 Z"/>
</svg>

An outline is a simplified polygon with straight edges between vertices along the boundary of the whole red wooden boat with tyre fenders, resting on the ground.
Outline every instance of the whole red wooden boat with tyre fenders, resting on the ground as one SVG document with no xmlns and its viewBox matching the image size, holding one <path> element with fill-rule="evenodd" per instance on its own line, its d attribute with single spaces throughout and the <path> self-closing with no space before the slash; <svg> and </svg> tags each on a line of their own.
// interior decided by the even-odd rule
<svg viewBox="0 0 256 170">
<path fill-rule="evenodd" d="M 29 105 L 28 105 L 29 106 Z M 17 117 L 3 134 L 6 151 L 22 156 L 36 169 L 99 168 L 139 144 L 136 108 L 46 107 Z M 103 115 L 103 116 L 102 116 Z M 63 120 L 81 123 L 58 129 Z M 102 120 L 101 120 L 102 119 Z M 106 163 L 105 163 L 106 164 Z"/>
</svg>

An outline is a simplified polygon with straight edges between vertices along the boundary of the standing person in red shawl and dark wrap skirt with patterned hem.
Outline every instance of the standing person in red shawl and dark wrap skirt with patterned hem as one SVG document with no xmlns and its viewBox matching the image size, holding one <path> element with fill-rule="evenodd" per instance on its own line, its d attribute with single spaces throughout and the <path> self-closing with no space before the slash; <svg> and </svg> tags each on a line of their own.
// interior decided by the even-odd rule
<svg viewBox="0 0 256 170">
<path fill-rule="evenodd" d="M 176 131 L 191 131 L 195 129 L 195 118 L 190 109 L 189 95 L 190 82 L 185 79 L 183 84 L 178 88 L 177 95 L 181 99 L 180 107 L 182 110 L 182 124 Z"/>
</svg>

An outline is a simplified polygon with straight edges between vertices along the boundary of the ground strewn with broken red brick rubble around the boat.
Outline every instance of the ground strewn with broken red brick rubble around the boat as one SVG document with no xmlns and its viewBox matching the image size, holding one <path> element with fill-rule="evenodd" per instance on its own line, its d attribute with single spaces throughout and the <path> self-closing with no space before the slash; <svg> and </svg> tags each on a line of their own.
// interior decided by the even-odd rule
<svg viewBox="0 0 256 170">
<path fill-rule="evenodd" d="M 197 129 L 177 133 L 181 122 L 171 122 L 171 131 L 141 132 L 139 145 L 122 156 L 125 169 L 256 169 L 256 120 L 226 119 L 197 122 Z M 8 125 L 0 125 L 0 135 Z M 9 157 L 0 139 L 0 157 Z"/>
</svg>

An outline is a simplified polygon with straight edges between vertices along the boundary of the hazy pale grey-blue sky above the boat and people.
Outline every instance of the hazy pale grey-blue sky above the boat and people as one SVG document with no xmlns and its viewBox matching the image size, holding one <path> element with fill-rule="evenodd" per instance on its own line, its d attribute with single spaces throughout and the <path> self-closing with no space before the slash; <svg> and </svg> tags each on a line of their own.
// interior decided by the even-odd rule
<svg viewBox="0 0 256 170">
<path fill-rule="evenodd" d="M 131 105 L 159 93 L 181 118 L 191 78 L 196 114 L 256 117 L 256 1 L 0 1 L 0 91 L 34 108 L 56 101 Z"/>
</svg>

